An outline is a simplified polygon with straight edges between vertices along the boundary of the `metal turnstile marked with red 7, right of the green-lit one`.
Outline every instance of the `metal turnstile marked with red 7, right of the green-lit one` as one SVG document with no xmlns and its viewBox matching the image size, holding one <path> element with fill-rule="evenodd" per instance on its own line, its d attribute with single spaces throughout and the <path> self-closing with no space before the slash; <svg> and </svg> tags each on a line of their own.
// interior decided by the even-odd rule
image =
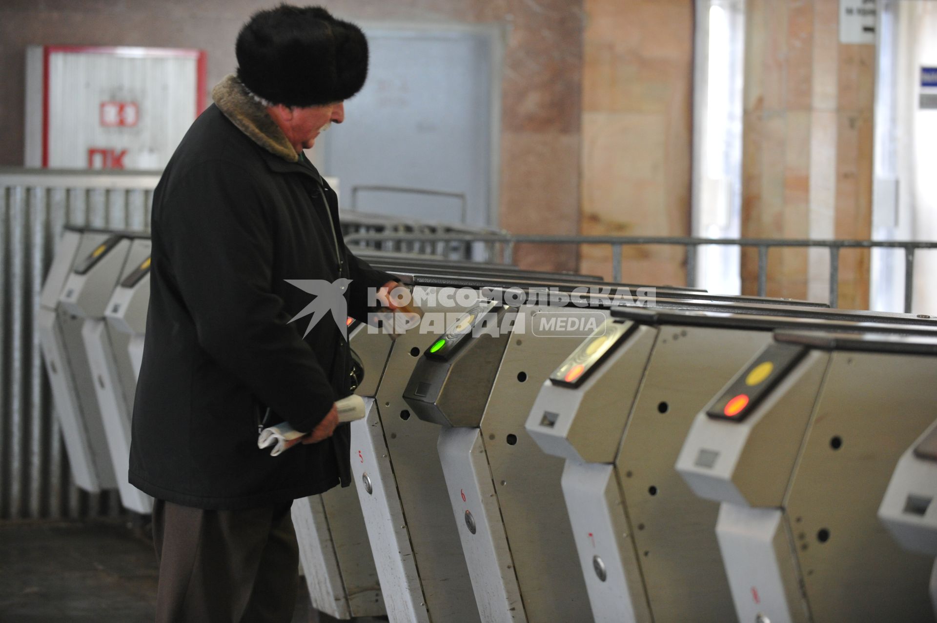
<svg viewBox="0 0 937 623">
<path fill-rule="evenodd" d="M 839 310 L 707 306 L 720 312 L 613 309 L 529 413 L 530 436 L 567 459 L 562 489 L 596 620 L 736 620 L 713 531 L 718 505 L 680 479 L 677 453 L 693 416 L 771 329 L 862 324 L 824 320 L 848 317 Z"/>
</svg>

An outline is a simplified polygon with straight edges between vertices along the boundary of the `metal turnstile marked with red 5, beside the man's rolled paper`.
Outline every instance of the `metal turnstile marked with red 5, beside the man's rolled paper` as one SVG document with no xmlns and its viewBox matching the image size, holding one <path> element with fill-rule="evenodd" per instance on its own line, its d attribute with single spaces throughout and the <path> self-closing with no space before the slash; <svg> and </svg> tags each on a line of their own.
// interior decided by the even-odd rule
<svg viewBox="0 0 937 623">
<path fill-rule="evenodd" d="M 478 301 L 467 294 L 424 313 L 458 315 Z M 366 325 L 351 334 L 365 369 L 357 393 L 369 398 L 367 416 L 351 423 L 351 470 L 391 621 L 479 621 L 456 527 L 440 512 L 448 497 L 431 450 L 439 429 L 410 417 L 403 399 L 417 359 L 439 337 L 426 326 L 395 340 Z"/>
</svg>

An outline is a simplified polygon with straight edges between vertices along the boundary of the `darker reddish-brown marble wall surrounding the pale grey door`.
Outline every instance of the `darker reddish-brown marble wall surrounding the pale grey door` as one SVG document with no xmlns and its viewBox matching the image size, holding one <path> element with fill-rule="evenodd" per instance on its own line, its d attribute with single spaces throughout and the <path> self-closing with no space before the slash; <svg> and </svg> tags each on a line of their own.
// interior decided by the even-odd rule
<svg viewBox="0 0 937 623">
<path fill-rule="evenodd" d="M 273 0 L 5 0 L 0 5 L 0 166 L 22 165 L 24 54 L 29 44 L 201 48 L 208 82 L 235 67 L 241 24 Z M 506 26 L 500 226 L 579 228 L 582 0 L 321 0 L 351 20 Z M 351 123 L 352 120 L 349 120 Z M 573 270 L 573 249 L 520 248 L 534 268 Z"/>
</svg>

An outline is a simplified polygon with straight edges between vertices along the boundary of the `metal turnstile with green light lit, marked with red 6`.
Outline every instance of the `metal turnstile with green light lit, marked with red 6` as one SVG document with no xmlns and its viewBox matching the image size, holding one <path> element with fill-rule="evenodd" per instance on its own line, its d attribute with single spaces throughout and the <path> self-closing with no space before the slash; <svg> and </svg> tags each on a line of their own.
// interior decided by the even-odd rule
<svg viewBox="0 0 937 623">
<path fill-rule="evenodd" d="M 543 378 L 581 341 L 556 320 L 585 327 L 607 315 L 490 304 L 456 320 L 409 379 L 414 413 L 442 425 L 439 457 L 484 621 L 590 618 L 569 520 L 550 512 L 562 461 L 540 452 L 523 425 Z"/>
</svg>

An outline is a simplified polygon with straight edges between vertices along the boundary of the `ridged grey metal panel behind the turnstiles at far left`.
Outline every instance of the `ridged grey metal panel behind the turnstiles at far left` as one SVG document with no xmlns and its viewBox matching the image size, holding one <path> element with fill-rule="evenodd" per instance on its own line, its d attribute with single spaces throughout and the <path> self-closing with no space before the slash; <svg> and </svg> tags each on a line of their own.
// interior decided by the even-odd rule
<svg viewBox="0 0 937 623">
<path fill-rule="evenodd" d="M 35 319 L 62 230 L 148 230 L 158 175 L 0 170 L 0 520 L 122 512 L 71 482 Z"/>
</svg>

